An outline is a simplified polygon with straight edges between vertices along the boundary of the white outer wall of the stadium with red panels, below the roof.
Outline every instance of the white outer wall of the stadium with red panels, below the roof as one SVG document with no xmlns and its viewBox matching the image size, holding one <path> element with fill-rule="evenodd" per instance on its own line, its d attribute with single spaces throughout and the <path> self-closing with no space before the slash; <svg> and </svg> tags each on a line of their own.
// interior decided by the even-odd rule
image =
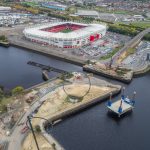
<svg viewBox="0 0 150 150">
<path fill-rule="evenodd" d="M 27 30 L 25 29 L 23 31 L 26 39 L 32 42 L 40 43 L 42 45 L 50 45 L 50 46 L 59 47 L 59 48 L 80 48 L 84 45 L 92 43 L 95 40 L 98 40 L 99 38 L 103 37 L 106 34 L 106 28 L 102 28 L 102 29 L 100 28 L 96 31 L 91 32 L 88 35 L 81 34 L 81 36 L 78 38 L 70 37 L 70 38 L 65 39 L 63 37 L 54 38 L 51 36 L 49 37 L 44 37 L 42 35 L 37 36 L 29 32 L 26 32 Z"/>
</svg>

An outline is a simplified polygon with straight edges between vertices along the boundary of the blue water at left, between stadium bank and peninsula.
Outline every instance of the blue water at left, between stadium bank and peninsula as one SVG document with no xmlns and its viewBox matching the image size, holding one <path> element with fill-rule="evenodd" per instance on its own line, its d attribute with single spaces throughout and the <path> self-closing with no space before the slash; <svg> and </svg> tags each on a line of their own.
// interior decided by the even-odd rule
<svg viewBox="0 0 150 150">
<path fill-rule="evenodd" d="M 0 47 L 0 85 L 7 89 L 18 85 L 28 88 L 43 82 L 41 69 L 27 65 L 28 61 L 39 62 L 67 71 L 82 70 L 81 67 L 23 49 Z M 51 72 L 50 78 L 55 77 L 56 74 Z"/>
</svg>

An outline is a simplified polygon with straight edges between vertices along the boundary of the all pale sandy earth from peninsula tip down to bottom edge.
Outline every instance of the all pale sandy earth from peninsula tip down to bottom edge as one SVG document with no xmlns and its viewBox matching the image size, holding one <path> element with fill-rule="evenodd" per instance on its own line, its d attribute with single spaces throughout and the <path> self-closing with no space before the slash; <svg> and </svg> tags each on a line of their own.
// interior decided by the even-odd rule
<svg viewBox="0 0 150 150">
<path fill-rule="evenodd" d="M 65 89 L 67 90 L 67 93 L 74 95 L 74 96 L 83 96 L 84 93 L 87 92 L 89 89 L 89 85 L 86 83 L 83 84 L 71 84 L 66 85 Z M 42 99 L 44 100 L 44 103 L 39 108 L 38 112 L 35 114 L 35 117 L 43 117 L 45 119 L 51 119 L 51 117 L 54 117 L 56 115 L 59 115 L 67 110 L 72 110 L 73 108 L 90 102 L 95 98 L 104 96 L 106 94 L 109 94 L 110 92 L 113 92 L 117 89 L 117 87 L 109 87 L 103 85 L 92 85 L 89 93 L 83 98 L 81 102 L 78 103 L 71 103 L 67 101 L 67 94 L 64 92 L 63 87 L 60 86 L 56 88 L 54 91 L 48 93 L 45 95 Z M 40 119 L 32 119 L 32 125 L 33 127 L 36 125 L 40 125 L 41 120 Z M 52 146 L 47 144 L 47 141 L 42 136 L 37 136 L 38 141 L 41 143 L 39 144 L 41 146 L 41 150 L 51 150 Z M 39 140 L 40 139 L 40 140 Z M 46 142 L 44 142 L 46 141 Z M 33 136 L 31 136 L 31 133 L 26 137 L 22 144 L 22 150 L 33 150 L 35 148 L 35 142 L 33 140 Z"/>
</svg>

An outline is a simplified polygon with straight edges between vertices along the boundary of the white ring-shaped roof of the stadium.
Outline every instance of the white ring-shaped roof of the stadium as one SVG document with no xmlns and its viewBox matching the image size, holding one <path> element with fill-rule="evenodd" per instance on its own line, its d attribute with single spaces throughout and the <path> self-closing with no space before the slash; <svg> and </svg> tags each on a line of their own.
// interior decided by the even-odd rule
<svg viewBox="0 0 150 150">
<path fill-rule="evenodd" d="M 43 31 L 41 29 L 53 27 L 61 24 L 66 23 L 72 23 L 77 25 L 83 25 L 86 26 L 85 28 L 78 29 L 69 33 L 62 33 L 62 32 L 47 32 Z M 83 24 L 83 23 L 74 23 L 74 22 L 57 22 L 57 23 L 47 23 L 44 25 L 36 25 L 29 28 L 24 29 L 23 33 L 28 35 L 33 35 L 37 37 L 43 37 L 43 38 L 57 38 L 57 39 L 77 39 L 80 37 L 86 37 L 88 35 L 91 35 L 91 33 L 96 33 L 97 31 L 103 31 L 106 30 L 106 25 L 100 25 L 100 24 Z"/>
</svg>

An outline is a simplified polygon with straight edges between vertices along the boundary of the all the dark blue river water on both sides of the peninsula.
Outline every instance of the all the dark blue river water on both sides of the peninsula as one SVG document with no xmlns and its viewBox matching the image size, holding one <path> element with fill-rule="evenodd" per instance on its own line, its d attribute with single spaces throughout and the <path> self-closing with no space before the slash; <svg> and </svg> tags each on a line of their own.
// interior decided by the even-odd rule
<svg viewBox="0 0 150 150">
<path fill-rule="evenodd" d="M 81 67 L 18 48 L 0 47 L 0 85 L 7 88 L 17 85 L 30 87 L 42 82 L 41 70 L 27 65 L 29 60 L 67 71 L 82 70 Z M 55 75 L 50 74 L 51 77 Z M 137 92 L 132 113 L 116 119 L 107 113 L 106 102 L 103 102 L 64 120 L 54 126 L 50 133 L 66 150 L 149 150 L 150 73 L 135 78 L 129 85 L 122 85 L 129 96 L 134 90 Z"/>
</svg>

